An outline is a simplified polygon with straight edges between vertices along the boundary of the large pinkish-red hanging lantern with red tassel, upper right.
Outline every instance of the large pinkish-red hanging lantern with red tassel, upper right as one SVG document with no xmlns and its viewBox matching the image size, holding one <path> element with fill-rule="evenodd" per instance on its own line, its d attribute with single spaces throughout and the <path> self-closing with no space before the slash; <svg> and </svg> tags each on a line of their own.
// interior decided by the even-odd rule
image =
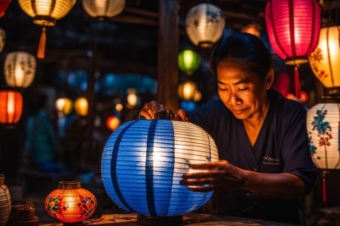
<svg viewBox="0 0 340 226">
<path fill-rule="evenodd" d="M 295 66 L 295 95 L 300 98 L 299 64 L 319 43 L 321 7 L 316 0 L 270 0 L 266 6 L 268 38 L 275 53 Z"/>
</svg>

